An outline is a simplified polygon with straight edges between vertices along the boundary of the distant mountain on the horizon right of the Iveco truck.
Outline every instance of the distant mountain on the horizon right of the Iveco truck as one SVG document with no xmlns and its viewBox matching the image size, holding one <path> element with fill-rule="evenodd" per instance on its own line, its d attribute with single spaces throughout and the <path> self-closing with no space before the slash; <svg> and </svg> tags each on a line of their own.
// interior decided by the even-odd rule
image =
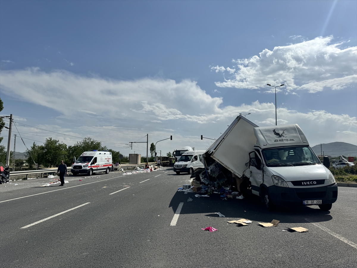
<svg viewBox="0 0 357 268">
<path fill-rule="evenodd" d="M 316 155 L 321 154 L 320 144 L 311 147 Z M 322 154 L 331 155 L 331 157 L 338 157 L 340 155 L 357 157 L 357 145 L 345 142 L 331 142 L 322 144 Z"/>
</svg>

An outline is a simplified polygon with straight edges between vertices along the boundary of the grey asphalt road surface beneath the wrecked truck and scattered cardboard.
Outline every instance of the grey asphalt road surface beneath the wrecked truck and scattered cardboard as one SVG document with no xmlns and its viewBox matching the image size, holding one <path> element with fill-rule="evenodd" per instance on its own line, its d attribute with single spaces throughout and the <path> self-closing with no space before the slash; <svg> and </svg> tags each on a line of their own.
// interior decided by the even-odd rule
<svg viewBox="0 0 357 268">
<path fill-rule="evenodd" d="M 0 267 L 356 267 L 357 188 L 339 187 L 330 212 L 268 212 L 255 197 L 177 192 L 189 178 L 164 169 L 65 177 L 64 187 L 39 187 L 50 179 L 0 185 Z M 227 223 L 240 218 L 253 223 Z M 277 227 L 258 225 L 273 219 Z M 208 226 L 218 230 L 201 230 Z"/>
</svg>

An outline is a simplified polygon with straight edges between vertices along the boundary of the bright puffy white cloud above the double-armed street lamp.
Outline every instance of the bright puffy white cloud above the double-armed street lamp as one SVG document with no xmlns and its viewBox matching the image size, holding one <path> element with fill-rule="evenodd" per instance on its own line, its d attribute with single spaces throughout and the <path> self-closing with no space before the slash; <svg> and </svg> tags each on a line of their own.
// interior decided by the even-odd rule
<svg viewBox="0 0 357 268">
<path fill-rule="evenodd" d="M 277 46 L 272 51 L 265 49 L 259 56 L 249 59 L 233 60 L 237 68 L 235 74 L 223 82 L 216 82 L 216 85 L 258 89 L 267 83 L 283 83 L 285 88 L 281 90 L 289 92 L 301 89 L 311 93 L 324 88 L 340 90 L 346 86 L 355 86 L 357 47 L 340 49 L 342 43 L 331 44 L 332 40 L 332 36 L 318 37 L 297 44 Z M 216 72 L 225 70 L 218 65 L 211 69 Z"/>
</svg>

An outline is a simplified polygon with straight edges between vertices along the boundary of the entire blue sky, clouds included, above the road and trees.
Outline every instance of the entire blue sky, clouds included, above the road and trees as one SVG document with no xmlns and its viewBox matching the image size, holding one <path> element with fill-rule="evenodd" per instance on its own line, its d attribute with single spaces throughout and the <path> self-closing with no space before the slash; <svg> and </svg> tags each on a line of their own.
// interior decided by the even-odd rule
<svg viewBox="0 0 357 268">
<path fill-rule="evenodd" d="M 45 138 L 21 123 L 124 154 L 146 133 L 174 136 L 158 144 L 165 154 L 202 150 L 209 140 L 198 137 L 218 138 L 239 113 L 275 124 L 266 84 L 283 83 L 278 124 L 299 124 L 311 146 L 357 144 L 356 10 L 341 0 L 1 1 L 2 115 L 32 134 L 21 134 L 27 146 Z"/>
</svg>

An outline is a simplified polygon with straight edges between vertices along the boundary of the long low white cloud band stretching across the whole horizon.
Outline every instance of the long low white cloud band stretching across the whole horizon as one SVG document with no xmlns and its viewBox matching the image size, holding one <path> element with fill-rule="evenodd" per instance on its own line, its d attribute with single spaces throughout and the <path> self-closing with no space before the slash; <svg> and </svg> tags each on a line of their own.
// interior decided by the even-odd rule
<svg viewBox="0 0 357 268">
<path fill-rule="evenodd" d="M 190 80 L 180 83 L 153 78 L 118 81 L 98 76 L 89 78 L 63 70 L 46 73 L 39 68 L 30 68 L 1 71 L 0 86 L 7 95 L 46 106 L 61 114 L 55 122 L 47 119 L 48 125 L 36 127 L 113 141 L 105 144 L 109 148 L 119 146 L 114 143 L 125 144 L 150 133 L 152 141 L 174 136 L 171 143 L 161 145 L 165 152 L 185 145 L 205 149 L 199 136 L 205 134 L 206 137 L 218 138 L 239 113 L 251 113 L 247 118 L 260 126 L 275 124 L 273 103 L 255 101 L 240 106 L 224 106 L 222 98 L 211 97 Z M 277 115 L 278 124 L 299 124 L 311 145 L 335 141 L 356 144 L 355 117 L 323 110 L 298 112 L 283 107 L 277 109 Z M 42 115 L 39 122 L 42 123 L 44 118 Z M 69 123 L 75 125 L 74 129 L 68 128 Z M 63 135 L 55 135 L 50 133 L 48 136 L 64 139 Z M 197 139 L 192 138 L 195 135 Z M 70 139 L 73 142 L 66 140 L 67 144 L 78 140 Z M 125 150 L 122 149 L 123 152 Z M 141 153 L 146 154 L 146 148 Z"/>
</svg>

